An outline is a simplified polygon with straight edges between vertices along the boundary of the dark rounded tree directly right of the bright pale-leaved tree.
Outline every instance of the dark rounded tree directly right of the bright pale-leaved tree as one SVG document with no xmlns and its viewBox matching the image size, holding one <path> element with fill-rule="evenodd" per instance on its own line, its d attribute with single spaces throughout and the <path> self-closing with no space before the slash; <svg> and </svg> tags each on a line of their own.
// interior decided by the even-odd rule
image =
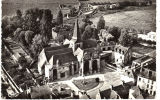
<svg viewBox="0 0 160 100">
<path fill-rule="evenodd" d="M 117 41 L 118 41 L 118 38 L 119 38 L 120 35 L 121 35 L 121 30 L 120 30 L 120 28 L 114 26 L 114 27 L 112 27 L 112 28 L 108 28 L 108 31 L 109 31 L 109 33 L 110 33 L 112 36 L 114 36 L 115 42 L 117 42 Z"/>
</svg>

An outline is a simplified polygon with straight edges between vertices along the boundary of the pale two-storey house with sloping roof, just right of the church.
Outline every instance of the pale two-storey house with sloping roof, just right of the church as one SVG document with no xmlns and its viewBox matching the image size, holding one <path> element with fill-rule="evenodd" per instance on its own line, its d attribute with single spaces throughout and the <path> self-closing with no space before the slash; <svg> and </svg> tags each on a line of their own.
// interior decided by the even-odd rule
<svg viewBox="0 0 160 100">
<path fill-rule="evenodd" d="M 122 45 L 115 45 L 114 48 L 114 57 L 115 57 L 115 64 L 117 66 L 124 66 L 130 63 L 131 61 L 131 48 L 124 47 Z"/>
</svg>

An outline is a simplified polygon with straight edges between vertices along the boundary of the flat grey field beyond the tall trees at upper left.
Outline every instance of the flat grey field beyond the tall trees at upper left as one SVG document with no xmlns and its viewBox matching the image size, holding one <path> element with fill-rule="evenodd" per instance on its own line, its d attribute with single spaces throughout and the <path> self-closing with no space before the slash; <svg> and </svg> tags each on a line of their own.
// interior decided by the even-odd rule
<svg viewBox="0 0 160 100">
<path fill-rule="evenodd" d="M 2 1 L 2 16 L 13 15 L 16 10 L 24 12 L 29 8 L 50 9 L 53 17 L 57 16 L 59 4 L 77 5 L 77 0 L 3 0 Z"/>
</svg>

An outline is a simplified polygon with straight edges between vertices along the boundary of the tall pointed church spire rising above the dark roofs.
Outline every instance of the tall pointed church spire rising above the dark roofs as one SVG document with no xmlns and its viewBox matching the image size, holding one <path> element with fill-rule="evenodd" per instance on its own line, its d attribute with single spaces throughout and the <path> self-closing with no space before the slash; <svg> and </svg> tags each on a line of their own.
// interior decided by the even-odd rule
<svg viewBox="0 0 160 100">
<path fill-rule="evenodd" d="M 81 34 L 79 31 L 78 19 L 76 19 L 75 21 L 72 39 L 76 40 L 76 42 L 81 42 Z"/>
</svg>

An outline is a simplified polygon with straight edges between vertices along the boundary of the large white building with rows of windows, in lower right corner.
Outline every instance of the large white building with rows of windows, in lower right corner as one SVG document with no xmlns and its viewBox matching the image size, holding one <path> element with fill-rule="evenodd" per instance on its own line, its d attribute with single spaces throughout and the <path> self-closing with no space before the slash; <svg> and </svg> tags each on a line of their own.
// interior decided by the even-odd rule
<svg viewBox="0 0 160 100">
<path fill-rule="evenodd" d="M 137 86 L 146 93 L 156 95 L 156 61 L 152 59 L 140 68 L 137 77 Z"/>
</svg>

